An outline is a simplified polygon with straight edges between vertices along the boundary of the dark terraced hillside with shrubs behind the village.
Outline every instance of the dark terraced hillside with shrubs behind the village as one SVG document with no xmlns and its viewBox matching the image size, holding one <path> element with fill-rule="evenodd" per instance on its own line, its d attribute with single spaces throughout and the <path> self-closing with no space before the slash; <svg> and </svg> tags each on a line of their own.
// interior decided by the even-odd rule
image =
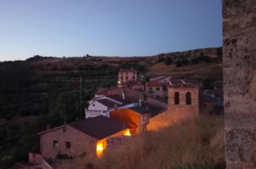
<svg viewBox="0 0 256 169">
<path fill-rule="evenodd" d="M 0 62 L 0 161 L 11 157 L 1 164 L 26 160 L 28 151 L 38 151 L 37 133 L 47 125 L 83 119 L 96 89 L 116 86 L 120 69 L 137 69 L 145 81 L 160 74 L 200 81 L 207 76 L 222 86 L 221 48 L 150 57 L 36 55 L 26 61 Z"/>
</svg>

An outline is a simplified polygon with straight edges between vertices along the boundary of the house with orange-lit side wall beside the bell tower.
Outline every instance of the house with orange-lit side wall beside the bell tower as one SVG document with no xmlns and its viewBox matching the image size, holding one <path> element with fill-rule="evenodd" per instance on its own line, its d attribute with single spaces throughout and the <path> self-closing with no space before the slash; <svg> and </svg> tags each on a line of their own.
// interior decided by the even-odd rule
<svg viewBox="0 0 256 169">
<path fill-rule="evenodd" d="M 110 117 L 126 124 L 131 134 L 140 134 L 147 131 L 151 112 L 148 107 L 138 106 L 113 110 Z"/>
</svg>

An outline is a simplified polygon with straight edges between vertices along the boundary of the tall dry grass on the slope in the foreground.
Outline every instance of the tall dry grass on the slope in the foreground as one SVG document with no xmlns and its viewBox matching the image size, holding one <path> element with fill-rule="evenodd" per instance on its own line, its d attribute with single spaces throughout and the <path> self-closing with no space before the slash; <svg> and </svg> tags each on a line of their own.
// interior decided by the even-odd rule
<svg viewBox="0 0 256 169">
<path fill-rule="evenodd" d="M 223 117 L 196 117 L 131 136 L 107 148 L 101 159 L 86 156 L 60 168 L 221 168 L 219 164 L 225 163 L 223 136 Z"/>
</svg>

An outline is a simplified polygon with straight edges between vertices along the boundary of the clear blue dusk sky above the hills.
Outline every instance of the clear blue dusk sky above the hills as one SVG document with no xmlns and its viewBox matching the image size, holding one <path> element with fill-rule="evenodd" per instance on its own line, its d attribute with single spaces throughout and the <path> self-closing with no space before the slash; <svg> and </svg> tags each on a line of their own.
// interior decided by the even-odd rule
<svg viewBox="0 0 256 169">
<path fill-rule="evenodd" d="M 0 1 L 0 61 L 220 46 L 221 0 Z"/>
</svg>

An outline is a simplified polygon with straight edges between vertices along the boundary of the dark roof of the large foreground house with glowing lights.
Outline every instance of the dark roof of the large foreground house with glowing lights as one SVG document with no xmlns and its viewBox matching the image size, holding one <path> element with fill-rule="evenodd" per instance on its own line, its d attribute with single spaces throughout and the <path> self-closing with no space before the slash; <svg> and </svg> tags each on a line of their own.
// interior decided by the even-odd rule
<svg viewBox="0 0 256 169">
<path fill-rule="evenodd" d="M 127 129 L 122 122 L 104 116 L 72 122 L 67 125 L 98 140 L 121 132 L 123 129 Z"/>
</svg>

